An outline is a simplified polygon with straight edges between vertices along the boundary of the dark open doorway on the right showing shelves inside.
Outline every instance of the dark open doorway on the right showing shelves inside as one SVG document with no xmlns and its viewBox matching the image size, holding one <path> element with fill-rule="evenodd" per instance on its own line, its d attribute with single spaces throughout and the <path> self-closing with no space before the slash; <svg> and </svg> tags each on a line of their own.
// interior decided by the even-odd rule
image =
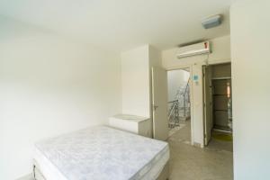
<svg viewBox="0 0 270 180">
<path fill-rule="evenodd" d="M 230 63 L 203 66 L 204 145 L 222 142 L 232 151 Z"/>
</svg>

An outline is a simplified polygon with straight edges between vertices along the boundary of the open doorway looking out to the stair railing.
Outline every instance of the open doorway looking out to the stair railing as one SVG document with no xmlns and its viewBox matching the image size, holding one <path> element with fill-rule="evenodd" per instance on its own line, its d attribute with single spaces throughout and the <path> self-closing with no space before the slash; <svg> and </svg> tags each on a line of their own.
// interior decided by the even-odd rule
<svg viewBox="0 0 270 180">
<path fill-rule="evenodd" d="M 190 68 L 167 71 L 169 138 L 191 144 Z"/>
</svg>

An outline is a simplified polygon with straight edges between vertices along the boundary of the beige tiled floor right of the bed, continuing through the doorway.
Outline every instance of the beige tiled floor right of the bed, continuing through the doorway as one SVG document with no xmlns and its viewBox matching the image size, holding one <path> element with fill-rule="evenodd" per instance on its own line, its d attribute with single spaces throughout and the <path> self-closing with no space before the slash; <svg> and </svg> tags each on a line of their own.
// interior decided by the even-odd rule
<svg viewBox="0 0 270 180">
<path fill-rule="evenodd" d="M 190 121 L 175 130 L 170 145 L 170 180 L 233 179 L 232 142 L 212 139 L 206 148 L 190 145 Z"/>
</svg>

